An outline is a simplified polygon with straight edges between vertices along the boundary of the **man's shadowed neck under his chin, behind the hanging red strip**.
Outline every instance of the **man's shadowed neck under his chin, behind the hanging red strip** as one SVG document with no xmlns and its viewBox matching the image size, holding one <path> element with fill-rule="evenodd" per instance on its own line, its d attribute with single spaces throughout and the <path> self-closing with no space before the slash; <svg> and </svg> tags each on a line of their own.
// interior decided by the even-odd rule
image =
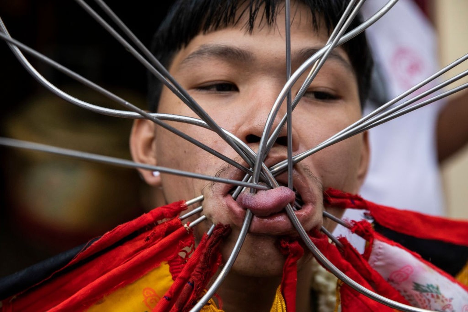
<svg viewBox="0 0 468 312">
<path fill-rule="evenodd" d="M 308 264 L 310 263 L 307 262 L 298 271 L 296 290 L 296 311 L 298 312 L 311 312 L 312 268 Z M 269 312 L 280 283 L 281 276 L 241 276 L 231 271 L 218 291 L 222 298 L 222 309 L 226 312 Z"/>
</svg>

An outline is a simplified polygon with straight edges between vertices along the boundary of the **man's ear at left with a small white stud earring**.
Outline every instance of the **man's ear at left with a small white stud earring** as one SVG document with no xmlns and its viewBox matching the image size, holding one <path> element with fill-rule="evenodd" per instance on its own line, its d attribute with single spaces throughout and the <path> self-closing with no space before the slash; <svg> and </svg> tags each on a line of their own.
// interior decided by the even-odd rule
<svg viewBox="0 0 468 312">
<path fill-rule="evenodd" d="M 135 162 L 157 166 L 156 135 L 154 123 L 145 119 L 133 122 L 130 135 L 130 152 Z M 154 175 L 151 170 L 138 169 L 143 179 L 151 186 L 161 186 L 161 175 Z"/>
</svg>

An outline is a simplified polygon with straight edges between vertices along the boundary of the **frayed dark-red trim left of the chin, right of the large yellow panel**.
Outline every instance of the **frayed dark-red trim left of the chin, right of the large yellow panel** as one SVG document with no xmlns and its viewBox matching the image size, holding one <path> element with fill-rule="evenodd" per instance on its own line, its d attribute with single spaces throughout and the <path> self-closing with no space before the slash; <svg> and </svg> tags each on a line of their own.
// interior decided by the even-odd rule
<svg viewBox="0 0 468 312">
<path fill-rule="evenodd" d="M 221 263 L 219 244 L 230 232 L 229 225 L 217 225 L 210 237 L 203 236 L 153 312 L 185 311 L 193 307 Z"/>
</svg>

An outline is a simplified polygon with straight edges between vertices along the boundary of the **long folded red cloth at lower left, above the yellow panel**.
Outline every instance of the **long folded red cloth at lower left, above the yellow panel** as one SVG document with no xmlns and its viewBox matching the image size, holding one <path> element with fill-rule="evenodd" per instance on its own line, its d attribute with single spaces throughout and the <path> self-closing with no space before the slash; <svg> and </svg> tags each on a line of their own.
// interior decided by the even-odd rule
<svg viewBox="0 0 468 312">
<path fill-rule="evenodd" d="M 174 257 L 181 245 L 194 243 L 193 235 L 179 219 L 157 223 L 175 217 L 185 208 L 184 202 L 173 203 L 117 226 L 51 277 L 3 302 L 4 309 L 80 311 L 89 307 Z M 128 238 L 130 234 L 135 237 Z"/>
</svg>

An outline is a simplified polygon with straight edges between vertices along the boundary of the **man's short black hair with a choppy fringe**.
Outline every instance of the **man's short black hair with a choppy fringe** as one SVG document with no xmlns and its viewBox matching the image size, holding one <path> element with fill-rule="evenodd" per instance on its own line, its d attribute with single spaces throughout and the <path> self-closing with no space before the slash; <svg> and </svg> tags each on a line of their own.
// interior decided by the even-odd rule
<svg viewBox="0 0 468 312">
<path fill-rule="evenodd" d="M 276 21 L 282 0 L 177 0 L 153 37 L 152 53 L 166 68 L 177 51 L 189 44 L 200 33 L 208 33 L 239 23 L 243 15 L 249 18 L 244 26 L 252 32 L 260 18 L 270 26 Z M 337 24 L 348 0 L 298 0 L 310 8 L 312 27 L 318 31 L 324 22 L 328 33 Z M 357 17 L 348 29 L 360 23 Z M 358 80 L 361 106 L 366 101 L 373 60 L 364 33 L 342 45 L 350 58 Z M 161 96 L 162 83 L 153 75 L 148 76 L 149 108 L 156 111 Z"/>
</svg>

